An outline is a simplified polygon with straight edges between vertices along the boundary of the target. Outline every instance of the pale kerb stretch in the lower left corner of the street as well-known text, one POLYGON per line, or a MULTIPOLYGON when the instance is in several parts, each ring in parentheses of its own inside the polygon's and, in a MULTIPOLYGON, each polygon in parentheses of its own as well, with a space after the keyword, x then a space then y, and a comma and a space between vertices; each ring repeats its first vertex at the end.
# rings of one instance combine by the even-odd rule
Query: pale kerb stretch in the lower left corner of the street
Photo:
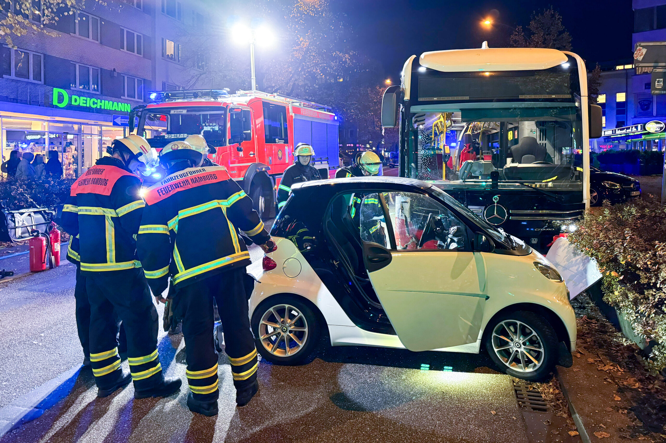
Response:
POLYGON ((0 408, 0 437, 21 424, 39 418, 68 396, 82 368, 83 365, 77 365, 0 408))

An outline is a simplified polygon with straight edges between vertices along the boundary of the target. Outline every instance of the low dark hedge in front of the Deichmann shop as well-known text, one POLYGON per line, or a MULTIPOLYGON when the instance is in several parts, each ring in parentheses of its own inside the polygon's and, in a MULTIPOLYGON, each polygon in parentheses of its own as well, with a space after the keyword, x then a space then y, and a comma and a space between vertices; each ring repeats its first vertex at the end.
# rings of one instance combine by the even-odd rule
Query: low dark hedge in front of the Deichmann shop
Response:
POLYGON ((0 200, 7 210, 50 208, 65 203, 73 178, 5 178, 0 180, 0 200))

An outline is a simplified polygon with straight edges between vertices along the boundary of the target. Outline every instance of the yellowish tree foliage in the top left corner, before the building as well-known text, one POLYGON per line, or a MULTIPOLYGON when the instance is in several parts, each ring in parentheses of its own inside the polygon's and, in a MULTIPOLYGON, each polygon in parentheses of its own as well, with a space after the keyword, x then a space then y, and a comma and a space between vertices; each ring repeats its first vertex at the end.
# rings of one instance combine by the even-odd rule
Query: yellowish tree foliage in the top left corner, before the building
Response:
POLYGON ((49 29, 49 25, 82 7, 81 0, 0 1, 0 35, 11 49, 17 49, 12 35, 20 37, 28 33, 42 33, 55 37, 57 33, 49 29))

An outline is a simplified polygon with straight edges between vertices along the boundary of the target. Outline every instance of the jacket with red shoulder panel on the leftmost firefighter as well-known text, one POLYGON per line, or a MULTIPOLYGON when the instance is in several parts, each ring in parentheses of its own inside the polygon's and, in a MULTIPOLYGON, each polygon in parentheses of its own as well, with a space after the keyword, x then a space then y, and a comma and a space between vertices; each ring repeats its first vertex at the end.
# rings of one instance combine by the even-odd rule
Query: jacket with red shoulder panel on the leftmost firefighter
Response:
POLYGON ((81 272, 141 267, 133 237, 145 206, 140 190, 141 179, 113 157, 100 158, 74 182, 62 225, 69 235, 79 237, 81 272))

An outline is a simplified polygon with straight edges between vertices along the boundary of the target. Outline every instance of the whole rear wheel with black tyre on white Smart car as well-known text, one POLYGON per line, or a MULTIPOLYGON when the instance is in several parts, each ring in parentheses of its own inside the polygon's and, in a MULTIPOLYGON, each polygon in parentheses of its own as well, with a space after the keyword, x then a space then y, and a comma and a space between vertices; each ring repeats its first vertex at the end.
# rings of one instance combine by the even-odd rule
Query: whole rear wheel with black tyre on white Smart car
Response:
POLYGON ((285 366, 309 363, 308 359, 317 347, 322 327, 318 315, 312 311, 312 308, 300 297, 290 295, 278 295, 262 301, 254 309, 250 324, 258 353, 270 363, 285 366), (288 329, 287 331, 288 334, 292 334, 291 337, 288 336, 290 346, 288 353, 284 349, 285 335, 280 331, 282 327, 276 328, 267 324, 281 324, 279 322, 284 319, 286 307, 289 308, 286 325, 293 323, 292 321, 296 317, 296 322, 292 327, 298 328, 298 330, 288 329), (300 343, 294 338, 299 339, 300 343), (277 345, 275 345, 275 341, 278 341, 277 345))

